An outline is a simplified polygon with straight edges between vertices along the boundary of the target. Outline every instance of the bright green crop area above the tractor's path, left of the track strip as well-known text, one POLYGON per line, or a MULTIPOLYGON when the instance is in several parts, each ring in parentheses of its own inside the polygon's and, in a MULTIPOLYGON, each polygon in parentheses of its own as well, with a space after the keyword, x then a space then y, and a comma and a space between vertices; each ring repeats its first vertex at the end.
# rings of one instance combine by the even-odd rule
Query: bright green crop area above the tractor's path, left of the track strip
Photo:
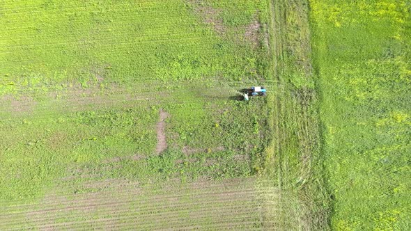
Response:
POLYGON ((254 38, 245 35, 254 20, 267 20, 263 0, 6 1, 0 10, 1 95, 77 84, 136 89, 160 80, 255 79, 264 68, 254 38))

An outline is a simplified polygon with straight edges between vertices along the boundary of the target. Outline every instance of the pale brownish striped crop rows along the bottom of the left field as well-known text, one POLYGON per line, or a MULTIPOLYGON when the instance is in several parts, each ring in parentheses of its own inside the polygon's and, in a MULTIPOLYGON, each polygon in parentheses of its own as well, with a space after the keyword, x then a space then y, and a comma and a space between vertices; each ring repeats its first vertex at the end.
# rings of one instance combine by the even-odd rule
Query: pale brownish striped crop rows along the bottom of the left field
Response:
MULTIPOLYGON (((82 200, 80 205, 77 205, 79 200, 75 199, 76 196, 73 200, 68 200, 65 197, 67 195, 60 198, 57 195, 52 198, 54 202, 51 204, 42 205, 40 202, 38 205, 27 205, 24 207, 26 209, 24 212, 13 210, 9 210, 6 214, 0 212, 7 216, 0 216, 2 221, 0 228, 1 230, 82 229, 87 225, 95 228, 96 224, 102 229, 173 227, 170 225, 183 228, 183 225, 199 224, 202 224, 201 227, 208 227, 207 225, 211 225, 210 221, 218 220, 221 221, 215 223, 217 226, 238 227, 240 223, 248 221, 247 219, 260 222, 261 212, 263 212, 261 204, 265 203, 264 195, 273 191, 277 194, 277 189, 270 186, 257 188, 254 179, 235 179, 233 182, 225 180, 217 183, 197 182, 184 187, 169 186, 158 189, 155 195, 151 189, 150 186, 145 189, 139 186, 134 186, 132 189, 113 187, 108 189, 105 192, 107 195, 100 199, 93 198, 95 193, 86 193, 79 199, 82 200), (130 195, 133 189, 137 190, 137 193, 130 195), (116 193, 110 196, 111 192, 119 192, 120 196, 116 193), (72 204, 75 206, 71 206, 72 204), (39 206, 43 208, 36 210, 39 206), (57 208, 58 206, 61 207, 57 208), (85 221, 79 221, 79 218, 84 218, 85 221), (192 223, 185 222, 187 219, 192 223), (26 222, 28 225, 24 225, 26 222)), ((20 210, 22 207, 15 209, 20 210)), ((251 221, 250 223, 253 223, 251 221)))

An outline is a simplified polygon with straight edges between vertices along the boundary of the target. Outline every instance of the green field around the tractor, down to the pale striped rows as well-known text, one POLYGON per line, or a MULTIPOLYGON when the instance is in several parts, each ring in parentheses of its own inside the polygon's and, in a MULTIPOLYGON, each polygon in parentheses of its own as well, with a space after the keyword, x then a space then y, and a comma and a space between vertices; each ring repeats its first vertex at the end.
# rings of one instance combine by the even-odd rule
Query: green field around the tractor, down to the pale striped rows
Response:
POLYGON ((263 47, 245 34, 260 15, 267 18, 267 6, 264 1, 239 3, 233 10, 224 3, 208 5, 4 3, 1 133, 7 138, 1 141, 6 149, 1 176, 7 193, 1 198, 36 196, 45 184, 65 177, 71 164, 98 169, 115 158, 123 169, 102 177, 153 177, 157 164, 164 165, 162 177, 250 175, 249 163, 233 160, 217 169, 193 166, 194 171, 191 162, 172 168, 174 161, 186 161, 184 148, 199 162, 240 154, 258 166, 256 153, 267 143, 256 138, 266 132, 265 116, 257 116, 267 113, 265 100, 228 100, 241 87, 237 79, 250 84, 265 79, 267 60, 258 55, 263 47), (207 19, 220 17, 206 12, 217 7, 226 9, 221 35, 207 19), (236 15, 240 10, 249 14, 236 15), (166 132, 172 144, 162 156, 153 153, 160 108, 170 114, 166 132), (133 156, 148 158, 153 166, 127 161, 133 156))

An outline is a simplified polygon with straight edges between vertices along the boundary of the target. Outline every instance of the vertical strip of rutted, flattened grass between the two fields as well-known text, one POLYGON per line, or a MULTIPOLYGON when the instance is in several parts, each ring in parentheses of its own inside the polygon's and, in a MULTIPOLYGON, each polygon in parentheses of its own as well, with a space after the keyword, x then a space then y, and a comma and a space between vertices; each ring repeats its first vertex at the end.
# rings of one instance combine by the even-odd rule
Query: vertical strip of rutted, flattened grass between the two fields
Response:
POLYGON ((329 198, 323 182, 318 100, 311 67, 307 1, 272 1, 272 147, 267 175, 281 189, 279 230, 327 230, 329 198), (273 154, 271 154, 273 153, 273 154), (273 166, 273 167, 270 167, 273 166))

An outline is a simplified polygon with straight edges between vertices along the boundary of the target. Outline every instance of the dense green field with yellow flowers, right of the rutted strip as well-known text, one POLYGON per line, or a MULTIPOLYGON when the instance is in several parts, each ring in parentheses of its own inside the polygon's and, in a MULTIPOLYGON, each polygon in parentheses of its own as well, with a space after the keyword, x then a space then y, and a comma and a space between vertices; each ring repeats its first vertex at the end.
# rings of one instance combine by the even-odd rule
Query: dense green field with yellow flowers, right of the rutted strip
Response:
POLYGON ((312 0, 335 230, 409 230, 410 1, 312 0))

